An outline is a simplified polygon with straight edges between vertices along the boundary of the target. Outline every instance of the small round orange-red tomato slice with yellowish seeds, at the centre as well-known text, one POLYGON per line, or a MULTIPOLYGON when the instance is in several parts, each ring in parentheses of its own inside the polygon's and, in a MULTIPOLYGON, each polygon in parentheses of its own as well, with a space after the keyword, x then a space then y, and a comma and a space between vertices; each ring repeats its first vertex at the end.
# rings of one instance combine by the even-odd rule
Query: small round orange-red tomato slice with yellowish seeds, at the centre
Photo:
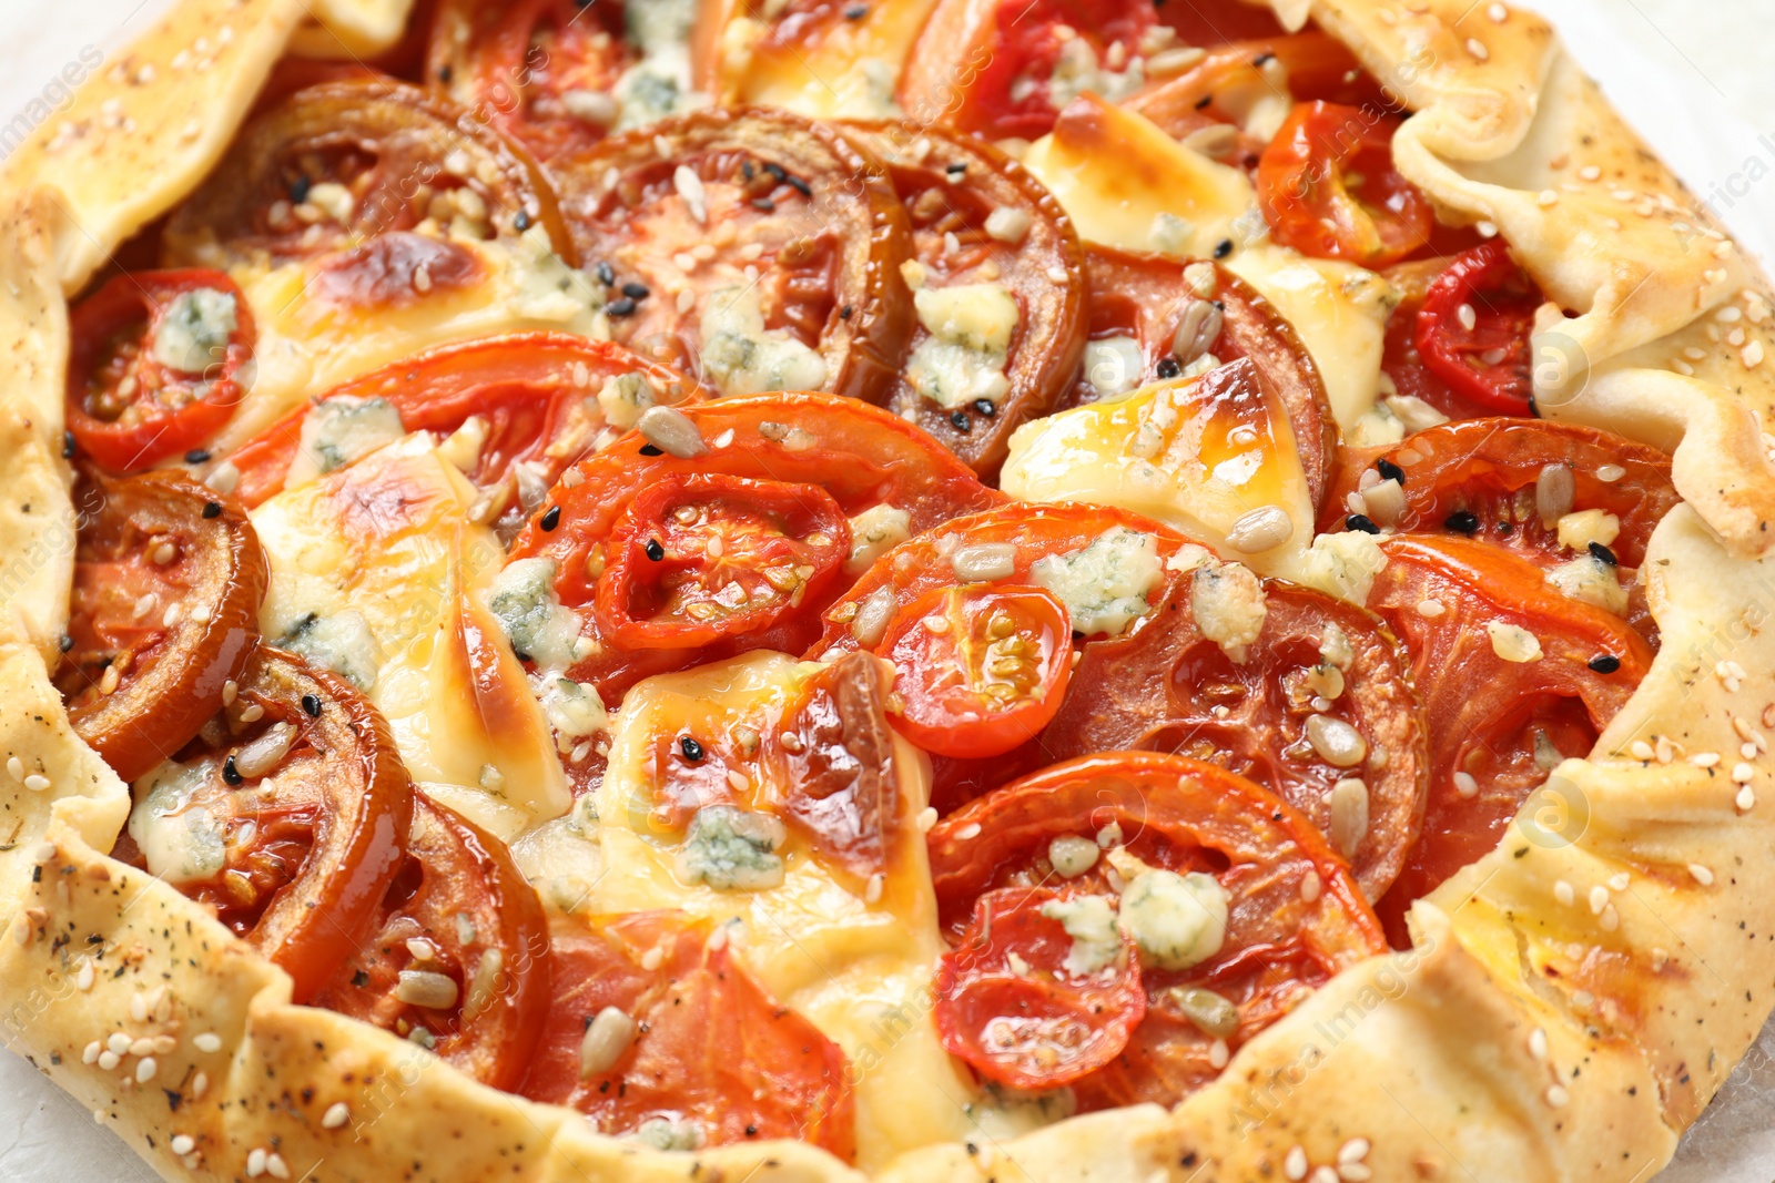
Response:
POLYGON ((1060 709, 1072 670, 1065 607, 1040 587, 932 591, 882 640, 902 706, 895 724, 941 756, 1001 756, 1060 709))

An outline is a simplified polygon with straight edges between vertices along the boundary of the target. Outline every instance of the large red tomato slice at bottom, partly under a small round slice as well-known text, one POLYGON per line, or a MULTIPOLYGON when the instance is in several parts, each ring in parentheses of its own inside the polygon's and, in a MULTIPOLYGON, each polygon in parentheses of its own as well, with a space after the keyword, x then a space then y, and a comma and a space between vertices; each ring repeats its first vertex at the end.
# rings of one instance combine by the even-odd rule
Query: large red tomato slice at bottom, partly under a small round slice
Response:
MULTIPOLYGON (((976 901, 999 892, 1058 883, 1069 896, 1115 897, 1109 862, 1118 848, 1116 858, 1209 874, 1227 892, 1218 952, 1186 970, 1141 967, 1145 1018, 1113 1061, 1072 1082, 1081 1110, 1177 1103, 1219 1075, 1214 1039, 1237 1048, 1331 975, 1384 949, 1360 887, 1305 818, 1267 789, 1180 756, 1113 752, 1056 764, 944 818, 928 844, 939 924, 958 951, 976 901), (1051 860, 1061 837, 1102 855, 1065 880, 1051 860), (1191 986, 1232 1004, 1237 1018, 1227 1034, 1209 1036, 1184 1015, 1177 991, 1191 986)), ((937 1007, 939 1030, 971 1015, 941 995, 937 1007)))

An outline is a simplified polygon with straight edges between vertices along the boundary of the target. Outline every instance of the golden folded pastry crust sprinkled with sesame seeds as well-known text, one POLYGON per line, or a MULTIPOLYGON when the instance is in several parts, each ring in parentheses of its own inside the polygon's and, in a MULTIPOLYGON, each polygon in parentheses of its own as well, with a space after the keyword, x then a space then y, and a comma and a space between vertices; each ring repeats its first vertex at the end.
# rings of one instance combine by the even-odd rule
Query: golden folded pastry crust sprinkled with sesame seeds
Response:
MULTIPOLYGON (((289 979, 199 905, 103 855, 128 786, 73 734, 46 674, 73 568, 64 298, 220 160, 309 11, 375 51, 405 7, 183 0, 0 170, 0 553, 14 557, 0 759, 20 761, 0 777, 5 1038, 169 1179, 861 1179, 797 1142, 643 1149, 295 1007, 289 979), (153 1050, 85 1062, 112 1032, 153 1050)), ((1541 20, 1470 0, 1274 7, 1393 85, 1418 112, 1397 135, 1408 179, 1454 220, 1496 225, 1578 312, 1541 325, 1541 411, 1674 450, 1686 504, 1644 568, 1663 646, 1592 757, 1562 764, 1491 855, 1416 906, 1416 949, 1333 979, 1216 1085, 1172 1114, 911 1151, 877 1178, 1205 1181, 1340 1162, 1376 1178, 1645 1178, 1775 1004, 1766 280, 1541 20)))

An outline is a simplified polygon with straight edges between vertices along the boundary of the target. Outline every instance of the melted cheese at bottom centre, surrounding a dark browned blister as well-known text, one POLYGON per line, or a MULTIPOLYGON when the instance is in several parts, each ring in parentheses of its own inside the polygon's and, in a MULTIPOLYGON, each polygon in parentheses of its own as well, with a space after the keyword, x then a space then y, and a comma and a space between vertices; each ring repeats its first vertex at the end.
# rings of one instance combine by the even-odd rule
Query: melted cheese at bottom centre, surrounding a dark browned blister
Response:
POLYGON ((857 1165, 870 1169, 974 1128, 967 1109, 978 1100, 976 1089, 937 1043, 930 1015, 943 942, 914 823, 930 791, 928 761, 895 740, 900 839, 873 905, 793 832, 774 851, 783 862, 779 885, 719 890, 690 883, 682 864, 683 835, 660 828, 651 812, 653 748, 660 738, 712 736, 738 724, 763 733, 799 701, 802 681, 818 669, 776 653, 751 653, 637 685, 618 711, 609 772, 596 795, 604 873, 566 866, 584 851, 564 835, 550 835, 536 871, 556 885, 595 881, 588 901, 593 912, 682 908, 717 922, 738 921, 731 940, 760 981, 845 1050, 856 1082, 857 1165))

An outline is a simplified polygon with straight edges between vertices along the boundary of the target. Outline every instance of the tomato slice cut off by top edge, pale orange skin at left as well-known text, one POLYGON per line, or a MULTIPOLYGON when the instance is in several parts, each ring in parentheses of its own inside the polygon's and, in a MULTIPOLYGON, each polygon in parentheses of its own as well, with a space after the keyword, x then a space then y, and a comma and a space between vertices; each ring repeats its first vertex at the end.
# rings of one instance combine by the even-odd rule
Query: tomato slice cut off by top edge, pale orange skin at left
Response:
POLYGON ((1033 140, 1081 90, 1115 101, 1136 89, 1131 62, 1177 43, 1157 27, 1152 0, 939 0, 900 74, 900 106, 912 124, 1033 140))

